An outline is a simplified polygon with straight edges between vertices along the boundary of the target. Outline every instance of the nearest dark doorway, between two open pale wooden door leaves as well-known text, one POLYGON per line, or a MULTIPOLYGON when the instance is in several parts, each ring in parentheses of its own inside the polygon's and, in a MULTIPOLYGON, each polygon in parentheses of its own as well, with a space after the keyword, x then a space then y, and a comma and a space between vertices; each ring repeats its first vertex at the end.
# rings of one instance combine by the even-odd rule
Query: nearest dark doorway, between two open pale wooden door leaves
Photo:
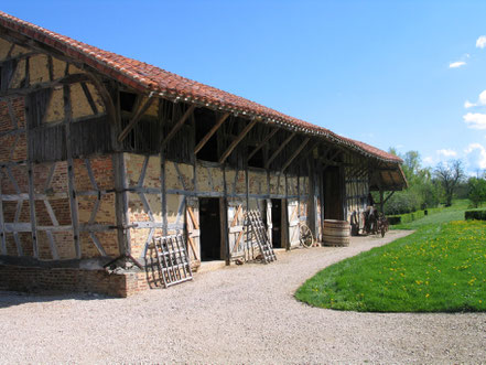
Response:
POLYGON ((201 260, 222 260, 219 198, 199 198, 201 260))

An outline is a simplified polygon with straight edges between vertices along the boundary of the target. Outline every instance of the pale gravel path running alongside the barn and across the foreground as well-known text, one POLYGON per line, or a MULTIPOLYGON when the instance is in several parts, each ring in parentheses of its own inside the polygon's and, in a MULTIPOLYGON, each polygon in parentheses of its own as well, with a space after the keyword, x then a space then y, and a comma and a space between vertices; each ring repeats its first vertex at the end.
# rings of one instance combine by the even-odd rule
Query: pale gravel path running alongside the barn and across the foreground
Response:
POLYGON ((486 313, 316 309, 293 292, 385 239, 299 249, 128 299, 0 292, 0 363, 486 363, 486 313))

